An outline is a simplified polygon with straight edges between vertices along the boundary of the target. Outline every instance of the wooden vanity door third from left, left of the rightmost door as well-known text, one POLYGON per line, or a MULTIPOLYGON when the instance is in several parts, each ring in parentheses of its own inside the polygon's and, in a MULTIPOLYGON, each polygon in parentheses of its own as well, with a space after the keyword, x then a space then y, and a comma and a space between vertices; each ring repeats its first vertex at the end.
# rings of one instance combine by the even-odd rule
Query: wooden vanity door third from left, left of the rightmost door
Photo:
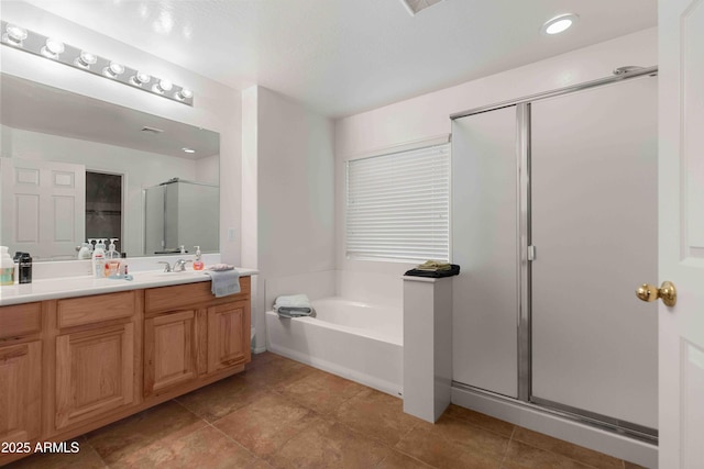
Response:
POLYGON ((144 394, 197 378, 197 322, 193 310, 144 321, 144 394))

